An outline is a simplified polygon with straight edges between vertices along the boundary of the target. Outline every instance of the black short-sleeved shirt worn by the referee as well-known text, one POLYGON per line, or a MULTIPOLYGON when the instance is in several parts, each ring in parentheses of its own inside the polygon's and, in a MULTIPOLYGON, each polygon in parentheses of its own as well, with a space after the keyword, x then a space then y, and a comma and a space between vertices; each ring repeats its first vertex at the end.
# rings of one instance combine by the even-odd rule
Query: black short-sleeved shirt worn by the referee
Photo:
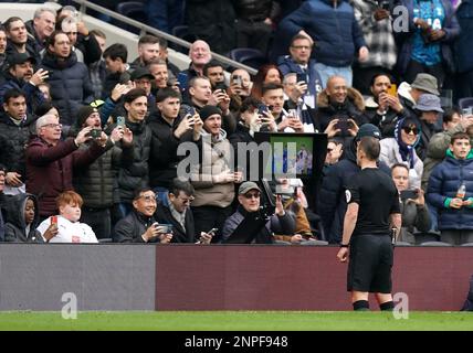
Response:
POLYGON ((389 215, 400 213, 400 199, 391 176, 378 168, 365 168, 345 191, 347 203, 359 205, 356 234, 389 234, 389 215))

